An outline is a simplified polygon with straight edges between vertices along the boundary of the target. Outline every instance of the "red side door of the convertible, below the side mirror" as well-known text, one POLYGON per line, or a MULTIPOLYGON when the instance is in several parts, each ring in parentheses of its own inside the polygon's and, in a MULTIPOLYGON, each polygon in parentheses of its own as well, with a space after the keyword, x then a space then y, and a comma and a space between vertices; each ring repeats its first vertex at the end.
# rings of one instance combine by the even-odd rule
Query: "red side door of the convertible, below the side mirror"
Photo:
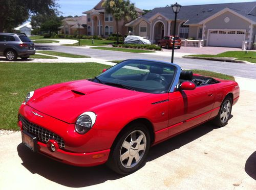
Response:
POLYGON ((208 120, 215 101, 211 85, 169 93, 168 135, 172 136, 208 120))

